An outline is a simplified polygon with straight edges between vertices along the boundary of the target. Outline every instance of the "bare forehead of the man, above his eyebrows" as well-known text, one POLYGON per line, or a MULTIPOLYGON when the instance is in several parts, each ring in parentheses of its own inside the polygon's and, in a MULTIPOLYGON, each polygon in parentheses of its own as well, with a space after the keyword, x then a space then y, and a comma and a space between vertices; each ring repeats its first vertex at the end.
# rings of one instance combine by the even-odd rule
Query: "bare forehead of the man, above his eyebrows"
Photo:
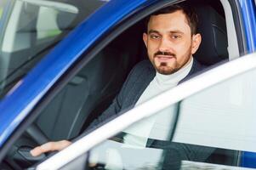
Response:
POLYGON ((190 32, 191 28, 188 24, 183 11, 178 10, 171 14, 152 15, 148 23, 148 31, 182 31, 190 32))

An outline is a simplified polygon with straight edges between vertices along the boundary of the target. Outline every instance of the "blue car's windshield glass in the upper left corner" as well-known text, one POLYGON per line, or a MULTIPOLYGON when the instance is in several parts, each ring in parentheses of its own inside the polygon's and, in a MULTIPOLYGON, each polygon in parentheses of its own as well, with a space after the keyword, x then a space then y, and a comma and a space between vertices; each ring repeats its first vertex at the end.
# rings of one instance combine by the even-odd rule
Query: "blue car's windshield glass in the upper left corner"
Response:
MULTIPOLYGON (((82 20, 105 2, 9 0, 0 31, 0 94, 5 94, 82 20)), ((3 16, 3 15, 2 15, 3 16)))

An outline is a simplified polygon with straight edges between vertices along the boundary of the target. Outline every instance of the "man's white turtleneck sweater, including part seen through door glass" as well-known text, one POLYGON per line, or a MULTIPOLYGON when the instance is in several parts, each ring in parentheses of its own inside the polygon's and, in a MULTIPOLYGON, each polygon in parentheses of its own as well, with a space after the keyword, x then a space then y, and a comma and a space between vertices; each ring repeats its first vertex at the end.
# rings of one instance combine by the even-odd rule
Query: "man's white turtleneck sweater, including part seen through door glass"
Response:
MULTIPOLYGON (((148 99, 161 94, 162 92, 174 88, 178 83, 184 79, 191 71, 193 64, 193 58, 179 71, 176 71, 171 75, 162 75, 156 72, 156 77, 151 81, 144 93, 140 96, 136 105, 145 102, 148 99)), ((134 138, 132 135, 126 135, 124 137, 125 144, 132 144, 137 146, 144 146, 148 138, 151 139, 168 139, 170 133, 170 127, 174 112, 174 106, 170 106, 167 109, 157 113, 155 116, 144 119, 134 126, 128 127, 124 130, 125 133, 134 134, 135 136, 143 137, 141 139, 134 138)))

